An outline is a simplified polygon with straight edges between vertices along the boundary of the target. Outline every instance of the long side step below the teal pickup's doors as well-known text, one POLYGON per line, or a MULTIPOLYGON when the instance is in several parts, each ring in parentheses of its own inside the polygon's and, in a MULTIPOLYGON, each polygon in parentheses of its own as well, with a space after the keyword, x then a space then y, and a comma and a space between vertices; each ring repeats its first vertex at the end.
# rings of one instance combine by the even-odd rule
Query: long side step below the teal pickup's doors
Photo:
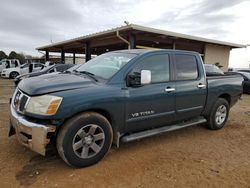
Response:
POLYGON ((169 131, 174 131, 177 129, 182 129, 185 127, 190 127, 193 125, 206 123, 206 122, 207 122, 207 120, 204 117, 197 117, 195 119, 192 119, 192 120, 189 120, 186 122, 182 122, 179 124, 175 124, 175 125, 169 125, 169 126, 165 126, 165 127, 159 127, 159 128, 155 128, 155 129, 150 129, 150 130, 146 130, 146 131, 132 133, 132 134, 123 136, 121 140, 122 140, 122 142, 132 142, 134 140, 139 140, 141 138, 146 138, 146 137, 154 136, 157 134, 161 134, 161 133, 165 133, 165 132, 169 132, 169 131))

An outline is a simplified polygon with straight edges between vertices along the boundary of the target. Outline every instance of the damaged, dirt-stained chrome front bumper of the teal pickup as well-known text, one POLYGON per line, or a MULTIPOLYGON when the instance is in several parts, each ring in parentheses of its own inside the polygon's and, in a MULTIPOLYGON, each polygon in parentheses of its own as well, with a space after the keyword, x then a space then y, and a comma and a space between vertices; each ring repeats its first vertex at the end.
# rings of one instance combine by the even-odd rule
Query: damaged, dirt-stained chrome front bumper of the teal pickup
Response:
POLYGON ((46 146, 50 139, 48 133, 56 131, 53 125, 42 125, 27 120, 23 115, 18 114, 13 105, 10 105, 10 134, 16 133, 18 141, 31 150, 44 155, 46 146))

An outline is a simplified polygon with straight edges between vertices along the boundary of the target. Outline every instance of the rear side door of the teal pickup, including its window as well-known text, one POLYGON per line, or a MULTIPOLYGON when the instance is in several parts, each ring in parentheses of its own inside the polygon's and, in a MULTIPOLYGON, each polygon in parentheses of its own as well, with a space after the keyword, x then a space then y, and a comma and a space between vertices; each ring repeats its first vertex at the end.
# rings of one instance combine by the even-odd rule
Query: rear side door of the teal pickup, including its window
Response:
POLYGON ((175 53, 176 120, 199 116, 207 96, 206 78, 199 57, 175 53))

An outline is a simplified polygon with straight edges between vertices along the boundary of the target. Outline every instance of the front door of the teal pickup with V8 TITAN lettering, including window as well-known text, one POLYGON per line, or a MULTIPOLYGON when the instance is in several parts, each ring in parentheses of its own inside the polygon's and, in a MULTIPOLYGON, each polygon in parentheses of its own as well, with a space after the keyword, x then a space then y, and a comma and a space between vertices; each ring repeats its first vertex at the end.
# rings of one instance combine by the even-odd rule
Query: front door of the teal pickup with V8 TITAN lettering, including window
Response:
POLYGON ((170 56, 159 53, 144 57, 135 65, 130 74, 141 70, 151 71, 151 83, 139 87, 128 87, 126 100, 127 131, 166 125, 174 120, 175 92, 171 81, 170 56))

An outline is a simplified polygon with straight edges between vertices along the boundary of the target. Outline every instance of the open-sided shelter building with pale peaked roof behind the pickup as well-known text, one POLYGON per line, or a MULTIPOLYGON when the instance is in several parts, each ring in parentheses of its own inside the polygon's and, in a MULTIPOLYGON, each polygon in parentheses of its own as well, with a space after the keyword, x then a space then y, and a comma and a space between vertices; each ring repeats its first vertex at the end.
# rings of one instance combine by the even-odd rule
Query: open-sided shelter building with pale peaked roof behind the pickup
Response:
POLYGON ((205 63, 219 64, 222 69, 228 69, 230 50, 245 48, 245 45, 223 42, 181 33, 129 24, 47 46, 37 48, 46 53, 49 60, 50 52, 61 54, 65 62, 65 53, 71 53, 75 63, 76 54, 85 54, 88 61, 91 55, 100 55, 107 51, 135 48, 162 48, 196 51, 201 54, 205 63))

